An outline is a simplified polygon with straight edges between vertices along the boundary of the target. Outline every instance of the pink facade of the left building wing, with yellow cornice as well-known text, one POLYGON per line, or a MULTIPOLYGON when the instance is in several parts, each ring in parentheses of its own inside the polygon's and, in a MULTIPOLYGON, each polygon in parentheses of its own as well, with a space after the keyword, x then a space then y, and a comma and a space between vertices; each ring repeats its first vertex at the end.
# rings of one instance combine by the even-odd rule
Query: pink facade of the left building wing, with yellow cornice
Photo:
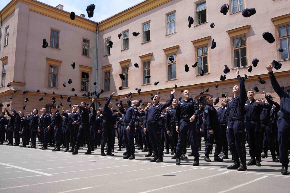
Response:
POLYGON ((70 13, 62 9, 62 5, 55 8, 34 0, 12 0, 1 10, 0 100, 4 106, 9 103, 22 110, 27 105, 25 112, 30 112, 47 105, 49 111, 52 97, 55 105, 61 102, 66 109, 67 96, 72 96, 72 104, 90 101, 81 95, 96 87, 97 23, 80 16, 71 20, 70 13), (43 39, 47 48, 42 48, 43 39), (21 95, 23 90, 28 93, 21 95), (39 97, 44 99, 39 101, 39 97))

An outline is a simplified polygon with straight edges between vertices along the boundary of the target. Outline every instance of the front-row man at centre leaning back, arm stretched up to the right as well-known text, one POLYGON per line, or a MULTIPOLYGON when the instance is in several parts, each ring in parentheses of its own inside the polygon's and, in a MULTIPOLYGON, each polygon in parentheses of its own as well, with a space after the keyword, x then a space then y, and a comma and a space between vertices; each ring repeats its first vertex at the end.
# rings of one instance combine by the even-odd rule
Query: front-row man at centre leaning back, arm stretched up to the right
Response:
POLYGON ((160 97, 158 95, 155 95, 153 97, 153 105, 148 107, 148 111, 144 118, 144 132, 145 134, 148 133, 149 138, 152 143, 153 149, 157 147, 157 150, 155 149, 154 152, 156 152, 153 159, 151 159, 151 162, 163 162, 163 150, 162 145, 160 143, 160 130, 158 125, 158 119, 163 109, 166 107, 169 107, 173 101, 173 94, 175 92, 175 89, 171 91, 171 94, 169 95, 170 98, 167 103, 165 104, 158 104, 160 97))

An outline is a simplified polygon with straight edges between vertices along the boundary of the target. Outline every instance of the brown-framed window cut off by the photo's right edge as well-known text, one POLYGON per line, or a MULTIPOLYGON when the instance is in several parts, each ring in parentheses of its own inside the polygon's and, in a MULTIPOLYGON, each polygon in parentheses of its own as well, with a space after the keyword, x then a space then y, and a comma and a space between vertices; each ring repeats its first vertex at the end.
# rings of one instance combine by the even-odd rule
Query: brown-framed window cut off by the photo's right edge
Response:
POLYGON ((290 26, 279 28, 280 48, 284 51, 280 52, 281 60, 290 58, 290 26))

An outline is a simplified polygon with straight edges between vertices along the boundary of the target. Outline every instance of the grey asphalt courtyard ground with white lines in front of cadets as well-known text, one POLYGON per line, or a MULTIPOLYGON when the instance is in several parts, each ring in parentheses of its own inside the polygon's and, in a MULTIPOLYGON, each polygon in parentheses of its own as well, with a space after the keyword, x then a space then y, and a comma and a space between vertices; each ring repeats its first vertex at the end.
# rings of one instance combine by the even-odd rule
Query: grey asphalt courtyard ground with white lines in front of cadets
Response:
POLYGON ((115 156, 100 156, 99 147, 90 155, 84 155, 86 148, 77 155, 51 149, 0 145, 0 192, 290 192, 290 175, 281 175, 270 152, 261 167, 239 172, 226 169, 231 155, 224 162, 210 155, 212 162, 205 162, 204 141, 200 166, 192 165, 193 157, 177 166, 170 154, 152 163, 137 149, 135 160, 123 159, 124 151, 116 149, 115 156))

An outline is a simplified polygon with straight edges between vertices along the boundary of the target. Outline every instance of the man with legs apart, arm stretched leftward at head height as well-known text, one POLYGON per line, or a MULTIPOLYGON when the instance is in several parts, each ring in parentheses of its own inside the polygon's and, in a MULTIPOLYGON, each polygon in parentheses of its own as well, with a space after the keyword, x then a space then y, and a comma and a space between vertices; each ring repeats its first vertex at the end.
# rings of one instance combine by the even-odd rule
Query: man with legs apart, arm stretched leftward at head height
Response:
POLYGON ((88 150, 85 152, 85 154, 91 154, 91 144, 90 144, 90 128, 89 128, 89 110, 86 108, 86 103, 81 102, 81 105, 73 105, 72 107, 80 108, 81 110, 81 125, 79 125, 79 130, 77 132, 77 142, 75 143, 75 150, 72 152, 72 154, 78 153, 78 148, 82 144, 82 137, 85 137, 85 141, 87 143, 88 150))

